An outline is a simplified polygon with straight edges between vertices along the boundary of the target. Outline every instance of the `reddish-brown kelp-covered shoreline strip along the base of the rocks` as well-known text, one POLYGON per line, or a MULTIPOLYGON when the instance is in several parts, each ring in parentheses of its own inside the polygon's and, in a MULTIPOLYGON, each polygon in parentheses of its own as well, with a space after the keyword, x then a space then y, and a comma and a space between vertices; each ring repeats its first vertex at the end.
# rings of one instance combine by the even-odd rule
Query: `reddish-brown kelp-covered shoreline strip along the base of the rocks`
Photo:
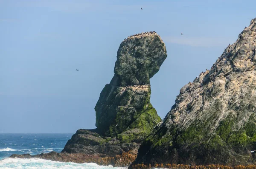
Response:
POLYGON ((256 165, 247 165, 247 166, 225 166, 220 164, 210 164, 210 165, 184 165, 184 164, 135 164, 131 163, 135 160, 137 155, 130 154, 130 152, 125 152, 122 155, 116 155, 115 157, 105 157, 100 158, 99 156, 86 155, 84 153, 57 153, 50 152, 47 154, 40 155, 11 155, 10 158, 40 158, 51 161, 59 162, 74 162, 74 163, 96 163, 102 166, 112 165, 113 167, 128 167, 129 169, 256 169, 256 165))

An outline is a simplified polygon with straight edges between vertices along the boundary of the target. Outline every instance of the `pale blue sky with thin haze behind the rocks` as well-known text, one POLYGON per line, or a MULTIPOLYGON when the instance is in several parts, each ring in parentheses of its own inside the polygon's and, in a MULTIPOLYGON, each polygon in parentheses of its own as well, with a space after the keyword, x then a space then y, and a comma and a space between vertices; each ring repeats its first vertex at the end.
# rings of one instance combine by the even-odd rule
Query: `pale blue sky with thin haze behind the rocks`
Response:
POLYGON ((151 78, 151 103, 164 118, 180 88, 211 68, 256 17, 255 6, 255 0, 0 0, 0 133, 95 128, 94 107, 113 77, 120 43, 144 31, 156 31, 166 44, 167 59, 151 78))

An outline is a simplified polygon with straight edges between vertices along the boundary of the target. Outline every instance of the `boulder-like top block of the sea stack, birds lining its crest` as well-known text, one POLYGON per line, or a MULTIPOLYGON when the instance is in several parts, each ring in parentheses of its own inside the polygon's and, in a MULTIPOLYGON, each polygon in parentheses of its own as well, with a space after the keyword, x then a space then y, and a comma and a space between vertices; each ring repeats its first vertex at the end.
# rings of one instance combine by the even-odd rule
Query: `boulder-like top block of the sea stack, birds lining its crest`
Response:
POLYGON ((150 84, 166 56, 166 47, 156 33, 128 37, 117 51, 113 85, 150 84))

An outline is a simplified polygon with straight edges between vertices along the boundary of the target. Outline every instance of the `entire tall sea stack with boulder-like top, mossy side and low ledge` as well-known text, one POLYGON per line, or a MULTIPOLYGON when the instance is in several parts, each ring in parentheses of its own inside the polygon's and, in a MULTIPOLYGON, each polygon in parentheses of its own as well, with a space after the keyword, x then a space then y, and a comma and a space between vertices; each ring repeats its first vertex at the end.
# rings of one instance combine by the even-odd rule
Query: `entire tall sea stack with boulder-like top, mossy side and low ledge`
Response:
POLYGON ((161 121, 150 103, 149 79, 166 59, 166 47, 155 32, 125 39, 114 76, 95 106, 96 129, 78 130, 62 152, 113 156, 134 150, 161 121))

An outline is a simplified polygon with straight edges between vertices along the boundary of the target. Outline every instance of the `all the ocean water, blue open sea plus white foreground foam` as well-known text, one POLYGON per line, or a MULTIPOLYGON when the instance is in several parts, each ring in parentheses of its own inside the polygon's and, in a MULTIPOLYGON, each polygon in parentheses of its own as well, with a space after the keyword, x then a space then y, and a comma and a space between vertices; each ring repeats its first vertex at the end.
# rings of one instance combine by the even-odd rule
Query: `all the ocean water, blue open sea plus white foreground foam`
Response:
MULTIPOLYGON (((95 163, 62 163, 42 159, 8 158, 12 154, 31 155, 61 152, 72 133, 61 134, 0 134, 0 169, 113 169, 95 163)), ((114 167, 124 169, 125 167, 114 167)), ((127 168, 127 167, 126 167, 127 168)))

